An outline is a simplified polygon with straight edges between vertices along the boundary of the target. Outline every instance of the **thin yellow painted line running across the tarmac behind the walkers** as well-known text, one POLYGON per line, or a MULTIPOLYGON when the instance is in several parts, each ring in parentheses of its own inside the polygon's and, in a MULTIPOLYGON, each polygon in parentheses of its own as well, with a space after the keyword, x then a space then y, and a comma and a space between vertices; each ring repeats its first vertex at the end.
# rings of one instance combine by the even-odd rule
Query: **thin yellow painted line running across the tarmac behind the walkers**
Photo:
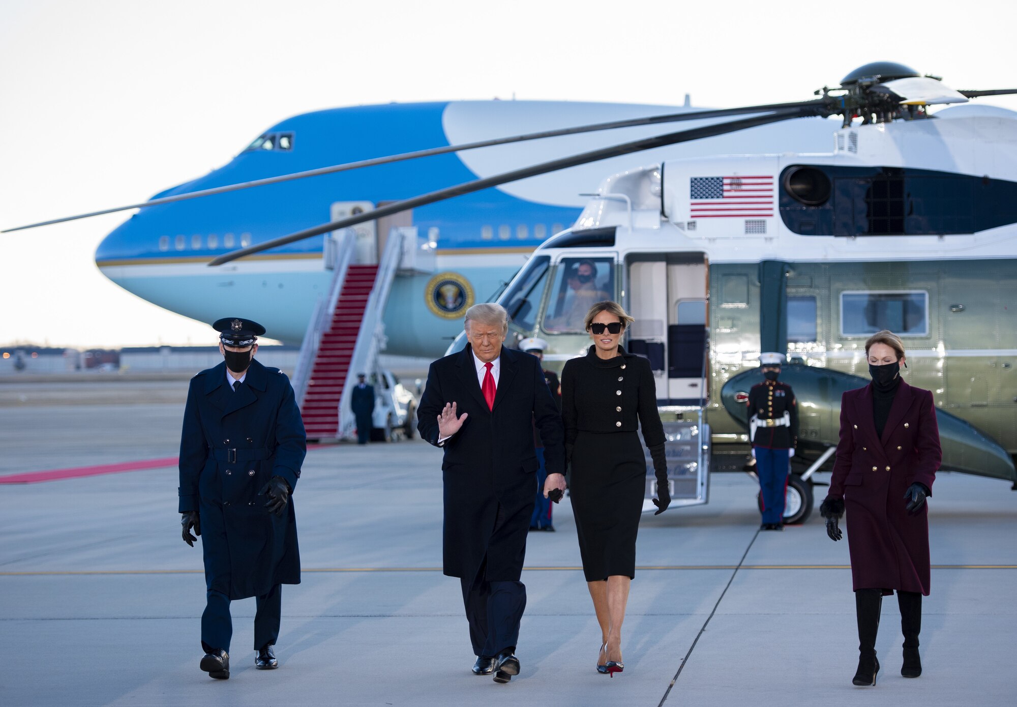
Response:
MULTIPOLYGON (((525 567, 524 572, 580 572, 582 567, 525 567)), ((637 567, 640 572, 651 570, 850 570, 850 565, 650 565, 637 567)), ((933 565, 933 570, 1017 570, 1017 565, 933 565)), ((378 573, 378 572, 441 572, 439 567, 311 567, 301 572, 310 574, 378 573)), ((39 570, 35 572, 0 572, 0 577, 59 577, 76 575, 200 575, 204 570, 39 570)))

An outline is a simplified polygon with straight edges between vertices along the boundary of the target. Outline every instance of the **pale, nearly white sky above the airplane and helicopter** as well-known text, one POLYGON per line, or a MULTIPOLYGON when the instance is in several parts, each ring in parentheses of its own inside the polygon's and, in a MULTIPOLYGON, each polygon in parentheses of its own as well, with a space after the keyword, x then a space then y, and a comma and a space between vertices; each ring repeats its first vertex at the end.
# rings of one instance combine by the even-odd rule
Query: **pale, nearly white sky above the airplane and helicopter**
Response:
MULTIPOLYGON (((1017 87, 1017 3, 0 0, 0 227, 141 201, 288 116, 455 99, 729 107, 870 61, 1017 87)), ((1017 110, 1017 97, 981 102, 1017 110)), ((207 344, 94 255, 127 215, 0 235, 0 344, 207 344)), ((212 336, 210 336, 212 335, 212 336)))

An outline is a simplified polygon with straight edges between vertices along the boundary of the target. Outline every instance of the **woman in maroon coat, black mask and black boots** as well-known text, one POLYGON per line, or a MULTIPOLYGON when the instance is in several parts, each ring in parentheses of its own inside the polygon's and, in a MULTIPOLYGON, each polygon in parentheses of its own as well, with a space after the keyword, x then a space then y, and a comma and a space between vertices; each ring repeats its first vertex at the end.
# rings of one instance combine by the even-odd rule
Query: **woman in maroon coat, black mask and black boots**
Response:
POLYGON ((830 492, 820 506, 827 534, 841 538, 847 511, 858 622, 854 685, 876 685, 876 634, 883 596, 897 590, 904 633, 905 677, 921 674, 918 632, 921 596, 929 596, 929 507, 942 452, 933 394, 900 376, 904 346, 880 332, 865 342, 873 381, 848 391, 840 403, 840 444, 830 492))

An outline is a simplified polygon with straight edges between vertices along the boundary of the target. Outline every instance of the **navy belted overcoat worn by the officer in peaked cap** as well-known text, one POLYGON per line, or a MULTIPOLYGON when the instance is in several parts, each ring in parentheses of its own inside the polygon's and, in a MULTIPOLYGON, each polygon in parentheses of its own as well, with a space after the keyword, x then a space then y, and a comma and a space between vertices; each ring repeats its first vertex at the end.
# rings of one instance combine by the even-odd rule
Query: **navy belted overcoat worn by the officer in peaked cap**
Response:
POLYGON ((197 511, 207 588, 230 599, 300 583, 293 496, 282 517, 258 491, 273 476, 295 489, 307 437, 290 380, 251 361, 240 390, 226 363, 191 378, 180 438, 180 513, 197 511))

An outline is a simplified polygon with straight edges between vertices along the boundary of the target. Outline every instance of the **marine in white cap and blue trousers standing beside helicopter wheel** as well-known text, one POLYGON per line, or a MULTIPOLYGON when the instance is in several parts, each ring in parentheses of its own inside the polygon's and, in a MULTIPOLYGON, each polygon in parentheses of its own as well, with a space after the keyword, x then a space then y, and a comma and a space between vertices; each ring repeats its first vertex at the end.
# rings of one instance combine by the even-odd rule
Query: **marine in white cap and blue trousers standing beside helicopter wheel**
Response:
POLYGON ((764 353, 760 365, 766 378, 749 391, 749 429, 756 473, 763 495, 763 530, 783 530, 788 460, 798 440, 798 406, 794 392, 780 382, 784 355, 764 353))

